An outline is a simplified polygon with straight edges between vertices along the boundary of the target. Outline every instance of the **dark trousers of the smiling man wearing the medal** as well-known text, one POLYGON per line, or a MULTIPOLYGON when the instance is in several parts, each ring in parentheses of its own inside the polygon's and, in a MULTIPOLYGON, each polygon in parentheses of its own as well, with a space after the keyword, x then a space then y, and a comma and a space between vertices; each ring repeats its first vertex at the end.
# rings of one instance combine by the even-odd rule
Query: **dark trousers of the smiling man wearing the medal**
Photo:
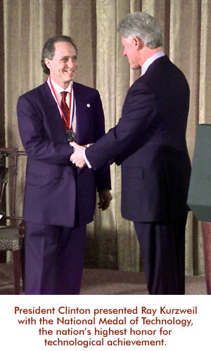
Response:
POLYGON ((25 294, 77 295, 84 265, 86 225, 26 223, 25 294))

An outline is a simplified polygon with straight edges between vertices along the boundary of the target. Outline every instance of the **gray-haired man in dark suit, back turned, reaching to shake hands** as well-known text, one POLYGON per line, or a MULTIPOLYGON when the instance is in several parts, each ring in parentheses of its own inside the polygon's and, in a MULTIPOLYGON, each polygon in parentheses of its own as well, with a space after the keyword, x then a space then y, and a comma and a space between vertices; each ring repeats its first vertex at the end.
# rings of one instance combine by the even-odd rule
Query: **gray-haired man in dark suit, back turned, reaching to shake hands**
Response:
POLYGON ((122 216, 134 221, 151 294, 184 294, 186 205, 191 163, 186 147, 189 88, 162 50, 158 22, 147 13, 119 25, 124 55, 141 77, 129 88, 122 118, 71 160, 97 169, 122 165, 122 216))

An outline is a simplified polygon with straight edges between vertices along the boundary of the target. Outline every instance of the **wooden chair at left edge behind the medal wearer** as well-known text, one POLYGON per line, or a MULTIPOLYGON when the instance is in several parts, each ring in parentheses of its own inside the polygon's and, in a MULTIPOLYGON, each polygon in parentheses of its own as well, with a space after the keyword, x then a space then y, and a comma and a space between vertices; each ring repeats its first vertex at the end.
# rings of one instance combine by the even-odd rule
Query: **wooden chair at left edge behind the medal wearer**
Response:
POLYGON ((15 196, 18 175, 18 159, 25 152, 14 147, 0 148, 0 251, 13 251, 13 275, 15 294, 20 293, 20 270, 24 291, 24 234, 25 223, 15 215, 15 196), (6 158, 8 162, 6 162, 6 158), (11 204, 6 201, 6 185, 11 193, 11 204), (10 208, 7 210, 6 208, 10 208), (10 220, 10 225, 7 225, 10 220), (3 224, 4 223, 4 224, 3 224), (12 223, 12 224, 11 224, 12 223))

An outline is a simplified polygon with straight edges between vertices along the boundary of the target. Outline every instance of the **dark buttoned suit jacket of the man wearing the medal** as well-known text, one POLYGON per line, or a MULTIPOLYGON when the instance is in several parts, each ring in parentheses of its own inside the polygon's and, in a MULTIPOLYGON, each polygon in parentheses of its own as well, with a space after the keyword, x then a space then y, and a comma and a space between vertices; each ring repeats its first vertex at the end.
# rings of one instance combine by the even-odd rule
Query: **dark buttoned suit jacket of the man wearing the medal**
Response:
MULTIPOLYGON (((98 91, 73 83, 77 143, 95 143, 105 133, 98 91)), ((18 126, 27 153, 23 218, 32 223, 73 227, 93 220, 96 187, 110 189, 110 169, 77 169, 63 120, 47 83, 18 99, 18 126), (77 220, 76 220, 77 218, 77 220)))

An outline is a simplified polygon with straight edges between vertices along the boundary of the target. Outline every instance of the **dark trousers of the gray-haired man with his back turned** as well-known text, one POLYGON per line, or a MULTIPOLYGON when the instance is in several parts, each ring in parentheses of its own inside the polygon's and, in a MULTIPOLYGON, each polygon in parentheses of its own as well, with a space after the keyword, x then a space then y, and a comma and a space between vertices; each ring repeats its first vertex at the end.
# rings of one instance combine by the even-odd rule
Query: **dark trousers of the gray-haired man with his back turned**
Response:
POLYGON ((134 222, 151 295, 184 295, 187 216, 165 222, 134 222))

